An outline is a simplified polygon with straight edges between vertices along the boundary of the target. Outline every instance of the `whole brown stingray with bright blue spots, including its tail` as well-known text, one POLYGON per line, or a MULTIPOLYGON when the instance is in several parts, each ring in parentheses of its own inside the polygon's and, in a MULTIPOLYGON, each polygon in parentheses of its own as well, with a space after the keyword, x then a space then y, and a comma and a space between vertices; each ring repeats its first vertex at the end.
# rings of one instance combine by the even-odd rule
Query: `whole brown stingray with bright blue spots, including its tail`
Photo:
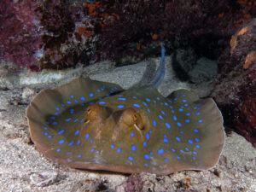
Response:
POLYGON ((79 78, 41 91, 26 111, 33 143, 73 168, 158 175, 211 168, 224 145, 222 115, 211 98, 189 90, 161 96, 164 73, 162 48, 147 86, 79 78))

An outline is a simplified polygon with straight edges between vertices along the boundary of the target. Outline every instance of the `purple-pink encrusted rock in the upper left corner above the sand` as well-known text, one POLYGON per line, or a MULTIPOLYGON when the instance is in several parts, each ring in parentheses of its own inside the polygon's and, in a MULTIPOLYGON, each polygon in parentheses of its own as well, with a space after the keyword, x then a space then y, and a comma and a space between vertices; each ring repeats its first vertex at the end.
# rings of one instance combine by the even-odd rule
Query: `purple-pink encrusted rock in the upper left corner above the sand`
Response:
POLYGON ((0 3, 0 57, 23 67, 36 63, 35 52, 42 39, 36 4, 32 1, 12 0, 0 3))

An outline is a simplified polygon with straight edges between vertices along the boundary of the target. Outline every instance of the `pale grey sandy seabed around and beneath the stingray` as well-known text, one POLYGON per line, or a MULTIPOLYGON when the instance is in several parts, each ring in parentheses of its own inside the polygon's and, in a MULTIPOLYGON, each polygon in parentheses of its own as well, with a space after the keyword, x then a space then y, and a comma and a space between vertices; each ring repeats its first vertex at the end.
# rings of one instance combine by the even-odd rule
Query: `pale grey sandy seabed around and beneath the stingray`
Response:
MULTIPOLYGON (((256 148, 235 132, 226 137, 223 153, 212 169, 167 176, 75 170, 38 153, 29 138, 26 121, 26 108, 38 91, 55 88, 80 75, 128 89, 146 82, 159 61, 149 59, 117 68, 105 61, 62 72, 25 70, 18 76, 0 70, 0 191, 256 191, 256 148)), ((207 67, 203 70, 204 75, 212 73, 207 67)), ((159 87, 163 96, 180 88, 206 96, 211 86, 211 80, 194 85, 179 81, 173 73, 171 58, 166 58, 166 76, 159 87)))

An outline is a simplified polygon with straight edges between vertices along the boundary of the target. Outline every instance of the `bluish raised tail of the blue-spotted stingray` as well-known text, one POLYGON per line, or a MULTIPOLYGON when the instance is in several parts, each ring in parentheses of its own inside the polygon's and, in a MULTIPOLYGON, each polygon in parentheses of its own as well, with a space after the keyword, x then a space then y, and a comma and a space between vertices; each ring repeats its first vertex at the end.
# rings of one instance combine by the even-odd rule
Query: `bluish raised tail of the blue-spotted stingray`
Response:
POLYGON ((165 76, 165 65, 166 65, 166 61, 165 61, 165 53, 166 53, 166 49, 164 47, 164 45, 161 45, 161 61, 160 61, 160 66, 158 67, 157 71, 154 73, 154 78, 151 79, 151 81, 148 83, 148 86, 153 86, 153 87, 157 87, 162 79, 165 76))

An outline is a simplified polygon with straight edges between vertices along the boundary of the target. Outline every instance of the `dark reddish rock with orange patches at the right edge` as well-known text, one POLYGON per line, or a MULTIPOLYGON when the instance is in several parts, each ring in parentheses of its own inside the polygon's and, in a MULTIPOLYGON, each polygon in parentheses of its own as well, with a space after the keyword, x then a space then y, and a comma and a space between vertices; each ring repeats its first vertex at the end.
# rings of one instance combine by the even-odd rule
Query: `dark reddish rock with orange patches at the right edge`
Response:
POLYGON ((256 19, 242 26, 218 60, 212 96, 224 121, 256 147, 256 19))

